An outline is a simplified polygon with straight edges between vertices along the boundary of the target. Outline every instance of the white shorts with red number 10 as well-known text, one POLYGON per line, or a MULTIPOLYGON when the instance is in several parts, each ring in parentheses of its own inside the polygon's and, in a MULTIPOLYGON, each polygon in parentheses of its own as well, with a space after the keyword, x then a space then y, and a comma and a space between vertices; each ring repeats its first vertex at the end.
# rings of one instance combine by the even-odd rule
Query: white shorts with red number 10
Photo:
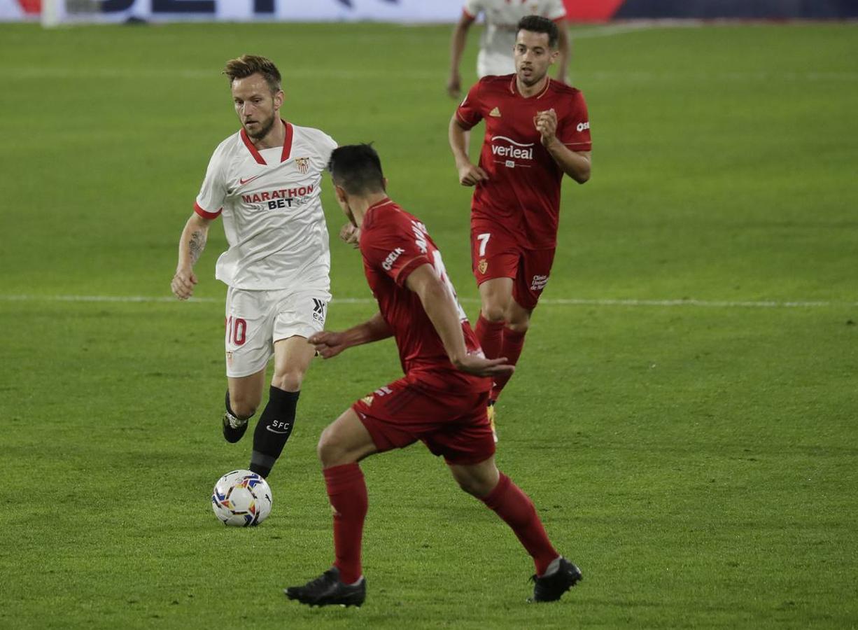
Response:
POLYGON ((263 370, 274 355, 274 343, 281 339, 321 332, 329 301, 324 289, 227 288, 227 376, 239 378, 263 370))

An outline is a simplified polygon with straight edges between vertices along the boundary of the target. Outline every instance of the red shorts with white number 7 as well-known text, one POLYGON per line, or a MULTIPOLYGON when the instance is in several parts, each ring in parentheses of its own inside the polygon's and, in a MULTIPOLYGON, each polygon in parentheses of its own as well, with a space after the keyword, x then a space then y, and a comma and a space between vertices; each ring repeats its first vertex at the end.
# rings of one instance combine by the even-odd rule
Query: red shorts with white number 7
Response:
POLYGON ((532 311, 551 275, 554 248, 532 250, 496 221, 471 222, 471 264, 477 286, 493 278, 512 278, 512 299, 532 311))

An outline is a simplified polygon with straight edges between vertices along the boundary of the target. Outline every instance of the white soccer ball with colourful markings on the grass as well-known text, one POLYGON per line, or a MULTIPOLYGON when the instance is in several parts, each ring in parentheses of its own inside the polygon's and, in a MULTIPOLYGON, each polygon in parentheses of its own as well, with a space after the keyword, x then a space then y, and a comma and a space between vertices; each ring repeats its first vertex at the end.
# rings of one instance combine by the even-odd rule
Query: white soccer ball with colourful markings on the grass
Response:
POLYGON ((233 470, 215 483, 212 510, 225 525, 258 525, 271 513, 271 488, 255 472, 233 470))

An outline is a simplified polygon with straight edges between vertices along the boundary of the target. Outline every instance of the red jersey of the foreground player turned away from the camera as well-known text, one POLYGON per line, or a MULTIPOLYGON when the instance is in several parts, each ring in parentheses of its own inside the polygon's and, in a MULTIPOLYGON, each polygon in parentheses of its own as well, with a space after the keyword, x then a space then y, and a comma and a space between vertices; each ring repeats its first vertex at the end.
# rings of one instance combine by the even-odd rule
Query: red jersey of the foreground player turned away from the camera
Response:
MULTIPOLYGON (((460 372, 450 363, 420 297, 405 286, 412 271, 431 264, 458 306, 441 252, 426 233, 426 226, 390 199, 384 199, 366 211, 360 226, 360 253, 364 257, 366 281, 378 300, 384 321, 396 337, 402 371, 431 391, 490 390, 491 379, 460 372)), ((462 306, 458 309, 468 351, 481 352, 462 306)))

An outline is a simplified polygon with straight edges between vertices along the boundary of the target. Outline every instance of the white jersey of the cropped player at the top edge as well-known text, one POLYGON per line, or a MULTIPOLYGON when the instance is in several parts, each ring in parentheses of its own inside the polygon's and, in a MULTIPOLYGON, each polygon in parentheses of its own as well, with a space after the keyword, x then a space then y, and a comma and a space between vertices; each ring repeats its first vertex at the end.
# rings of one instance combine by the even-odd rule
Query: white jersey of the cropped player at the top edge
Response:
POLYGON ((541 15, 549 20, 566 16, 563 0, 467 0, 462 10, 476 19, 486 16, 486 27, 480 38, 477 74, 511 75, 516 71, 512 48, 516 45, 518 21, 527 15, 541 15))

